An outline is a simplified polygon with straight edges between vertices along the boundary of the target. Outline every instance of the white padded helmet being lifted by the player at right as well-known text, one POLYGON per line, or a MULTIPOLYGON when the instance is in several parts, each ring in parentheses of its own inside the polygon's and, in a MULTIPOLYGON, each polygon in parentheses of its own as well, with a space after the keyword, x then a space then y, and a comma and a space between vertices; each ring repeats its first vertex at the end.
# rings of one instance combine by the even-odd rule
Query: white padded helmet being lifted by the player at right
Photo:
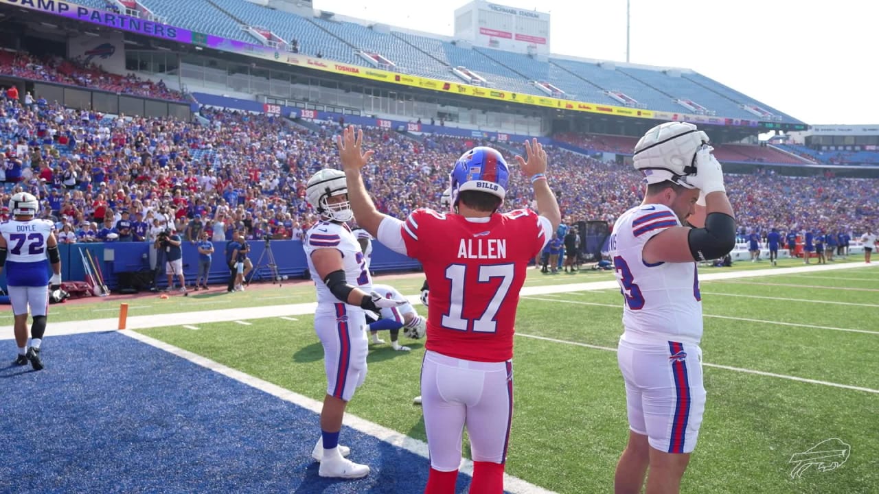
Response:
POLYGON ((647 131, 635 146, 635 169, 648 185, 671 180, 688 189, 687 175, 696 172, 696 153, 708 146, 708 134, 687 122, 665 122, 647 131))

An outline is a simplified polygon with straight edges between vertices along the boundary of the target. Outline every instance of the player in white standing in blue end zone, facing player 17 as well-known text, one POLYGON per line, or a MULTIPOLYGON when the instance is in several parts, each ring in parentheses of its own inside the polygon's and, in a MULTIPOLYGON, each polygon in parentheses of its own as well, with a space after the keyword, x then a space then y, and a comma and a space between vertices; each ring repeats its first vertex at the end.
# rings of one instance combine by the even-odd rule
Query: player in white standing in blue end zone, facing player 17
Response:
POLYGON ((369 467, 345 459, 348 447, 338 445, 345 406, 367 376, 365 310, 399 307, 372 290, 357 239, 345 222, 353 214, 345 173, 324 169, 309 178, 306 197, 321 216, 305 234, 303 247, 317 289, 315 331, 323 345, 327 392, 321 410, 321 439, 311 455, 321 462, 319 476, 360 478, 369 467))

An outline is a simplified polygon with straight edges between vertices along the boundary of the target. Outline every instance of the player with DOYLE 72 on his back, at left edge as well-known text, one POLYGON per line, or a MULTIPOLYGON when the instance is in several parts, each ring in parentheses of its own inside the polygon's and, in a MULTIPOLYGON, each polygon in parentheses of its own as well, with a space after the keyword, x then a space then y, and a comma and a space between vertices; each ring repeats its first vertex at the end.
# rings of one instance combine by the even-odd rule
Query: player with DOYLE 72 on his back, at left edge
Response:
POLYGON ((40 201, 30 193, 16 193, 9 201, 12 220, 0 224, 0 271, 6 269, 6 285, 15 316, 15 341, 19 366, 31 362, 43 368, 40 344, 46 332, 49 290, 61 287, 61 255, 52 233, 54 223, 36 218, 40 201), (46 258, 52 265, 48 276, 46 258), (33 316, 31 344, 27 345, 27 313, 33 316))

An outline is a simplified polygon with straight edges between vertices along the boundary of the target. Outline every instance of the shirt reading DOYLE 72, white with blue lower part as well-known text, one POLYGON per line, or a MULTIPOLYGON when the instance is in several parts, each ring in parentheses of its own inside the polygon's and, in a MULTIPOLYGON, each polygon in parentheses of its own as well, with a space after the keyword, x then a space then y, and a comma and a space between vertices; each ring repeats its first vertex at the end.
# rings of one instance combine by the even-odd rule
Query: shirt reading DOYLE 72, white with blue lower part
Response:
POLYGON ((11 220, 0 224, 6 240, 6 284, 10 287, 45 287, 49 284, 46 242, 54 223, 47 220, 11 220))

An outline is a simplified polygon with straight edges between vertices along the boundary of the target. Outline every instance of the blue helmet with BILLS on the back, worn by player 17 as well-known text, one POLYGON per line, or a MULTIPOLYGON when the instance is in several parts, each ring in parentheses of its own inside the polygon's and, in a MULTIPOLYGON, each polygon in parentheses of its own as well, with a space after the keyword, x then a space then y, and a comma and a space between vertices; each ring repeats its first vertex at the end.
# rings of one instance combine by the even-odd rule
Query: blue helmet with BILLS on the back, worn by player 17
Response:
POLYGON ((450 177, 454 211, 461 191, 490 193, 504 200, 510 169, 497 150, 478 146, 458 158, 450 177))

